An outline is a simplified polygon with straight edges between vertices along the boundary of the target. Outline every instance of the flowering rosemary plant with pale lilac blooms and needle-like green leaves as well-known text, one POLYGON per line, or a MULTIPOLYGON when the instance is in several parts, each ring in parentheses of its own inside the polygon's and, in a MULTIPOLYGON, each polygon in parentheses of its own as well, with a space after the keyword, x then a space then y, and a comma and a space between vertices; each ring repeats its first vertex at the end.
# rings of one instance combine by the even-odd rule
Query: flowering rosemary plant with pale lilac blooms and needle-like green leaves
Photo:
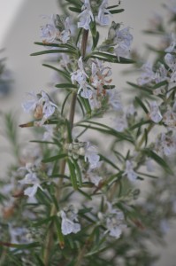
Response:
MULTIPOLYGON (((167 159, 176 148, 175 37, 163 50, 149 47, 157 59, 142 66, 136 84, 128 82, 125 105, 113 65, 136 62, 131 28, 114 21, 124 12, 120 2, 59 3, 63 15, 43 18, 35 43, 42 51, 32 54, 50 55, 43 66, 57 73, 57 90, 30 92, 22 105, 33 119, 20 127, 33 127, 36 138, 26 153, 15 145, 18 165, 2 181, 0 264, 153 265, 145 240, 161 239, 176 212, 167 159), (105 40, 100 27, 107 27, 105 40), (153 180, 145 202, 144 179, 153 180), (172 199, 163 196, 166 185, 172 199)), ((164 27, 149 33, 164 35, 164 27)))

